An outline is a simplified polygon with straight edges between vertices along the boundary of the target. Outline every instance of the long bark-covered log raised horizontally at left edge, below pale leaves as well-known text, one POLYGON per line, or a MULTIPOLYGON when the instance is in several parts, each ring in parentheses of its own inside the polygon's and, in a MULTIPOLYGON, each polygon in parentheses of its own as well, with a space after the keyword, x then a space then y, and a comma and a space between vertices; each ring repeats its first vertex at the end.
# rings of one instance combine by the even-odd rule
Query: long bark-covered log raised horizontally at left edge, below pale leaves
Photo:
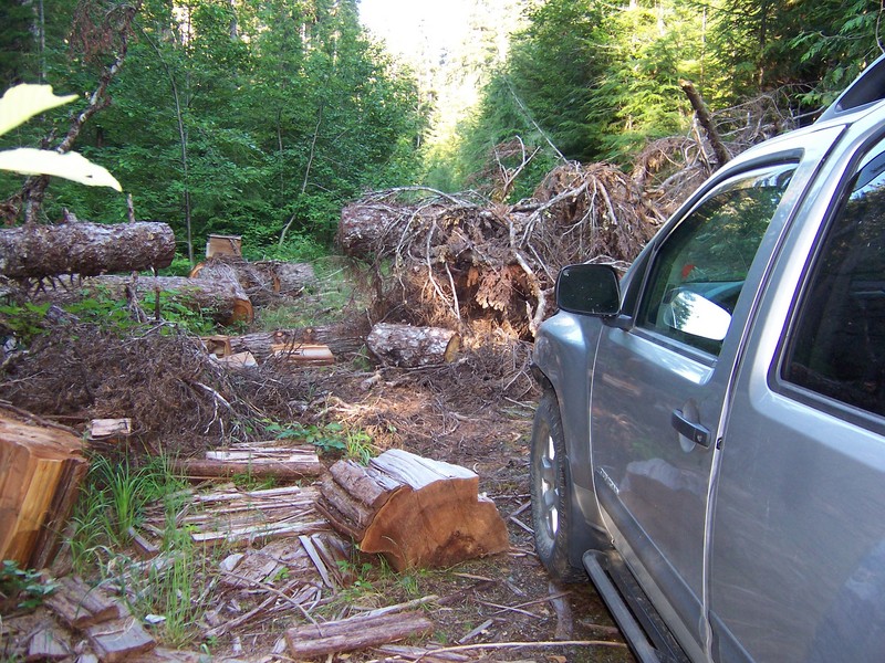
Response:
POLYGON ((25 224, 0 230, 0 274, 43 278, 94 276, 166 267, 175 257, 175 234, 166 223, 25 224))

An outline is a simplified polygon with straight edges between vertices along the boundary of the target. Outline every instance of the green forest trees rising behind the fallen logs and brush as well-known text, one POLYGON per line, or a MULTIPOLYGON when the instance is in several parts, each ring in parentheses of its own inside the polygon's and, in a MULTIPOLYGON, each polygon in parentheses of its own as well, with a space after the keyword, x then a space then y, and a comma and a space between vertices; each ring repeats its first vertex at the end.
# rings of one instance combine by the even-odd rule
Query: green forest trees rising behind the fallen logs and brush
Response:
MULTIPOLYGON (((4 90, 77 94, 75 113, 95 106, 76 149, 114 173, 139 219, 170 223, 183 255, 221 233, 310 257, 366 191, 424 183, 514 200, 564 160, 628 171, 649 141, 697 130, 684 81, 748 123, 766 99, 782 130, 812 122, 882 53, 872 0, 458 7, 457 34, 416 32, 397 48, 395 29, 364 27, 358 0, 10 0, 0 76, 4 90), (496 190, 502 168, 519 177, 496 190)), ((2 147, 53 148, 70 126, 59 108, 2 147)), ((7 223, 24 219, 22 182, 0 179, 7 223)), ((39 219, 63 208, 119 222, 126 197, 53 180, 39 219)))

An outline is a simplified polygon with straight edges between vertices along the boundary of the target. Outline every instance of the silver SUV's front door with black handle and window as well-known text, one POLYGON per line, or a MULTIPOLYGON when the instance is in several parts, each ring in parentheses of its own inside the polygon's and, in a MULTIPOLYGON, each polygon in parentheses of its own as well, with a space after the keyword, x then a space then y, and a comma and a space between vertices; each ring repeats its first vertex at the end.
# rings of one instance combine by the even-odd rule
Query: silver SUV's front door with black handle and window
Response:
MULTIPOLYGON (((836 135, 821 135, 816 157, 836 135)), ((766 269, 764 255, 754 263, 760 243, 760 253, 770 250, 814 171, 801 154, 720 180, 660 234, 646 273, 634 277, 633 325, 606 326, 595 355, 591 449, 602 517, 696 660, 706 656, 712 452, 745 333, 732 320, 746 319, 766 269)))

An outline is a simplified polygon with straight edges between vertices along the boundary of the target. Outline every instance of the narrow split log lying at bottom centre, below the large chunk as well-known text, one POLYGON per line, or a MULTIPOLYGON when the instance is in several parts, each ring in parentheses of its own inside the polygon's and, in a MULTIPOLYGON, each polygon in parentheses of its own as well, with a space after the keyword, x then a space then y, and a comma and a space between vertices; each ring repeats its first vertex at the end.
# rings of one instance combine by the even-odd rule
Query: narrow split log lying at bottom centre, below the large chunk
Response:
POLYGON ((285 641, 292 656, 302 661, 429 635, 433 630, 434 623, 423 613, 402 612, 296 627, 285 632, 285 641))

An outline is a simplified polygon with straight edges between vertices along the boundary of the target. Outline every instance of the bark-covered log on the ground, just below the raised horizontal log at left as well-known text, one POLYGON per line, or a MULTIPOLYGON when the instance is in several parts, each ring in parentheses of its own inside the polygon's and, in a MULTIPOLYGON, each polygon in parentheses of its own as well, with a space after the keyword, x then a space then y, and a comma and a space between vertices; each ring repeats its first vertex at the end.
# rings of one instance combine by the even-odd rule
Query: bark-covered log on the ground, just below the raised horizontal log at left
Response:
MULTIPOLYGON (((103 291, 112 297, 126 298, 126 288, 132 285, 131 276, 93 276, 83 281, 81 290, 93 294, 103 291)), ((254 316, 252 302, 236 281, 216 282, 184 276, 148 276, 135 281, 135 293, 139 301, 144 301, 146 296, 153 299, 157 288, 173 293, 176 302, 195 311, 202 311, 220 325, 251 323, 254 316)), ((59 298, 70 295, 71 293, 59 293, 59 298)), ((54 294, 50 292, 45 296, 54 298, 54 294)))

